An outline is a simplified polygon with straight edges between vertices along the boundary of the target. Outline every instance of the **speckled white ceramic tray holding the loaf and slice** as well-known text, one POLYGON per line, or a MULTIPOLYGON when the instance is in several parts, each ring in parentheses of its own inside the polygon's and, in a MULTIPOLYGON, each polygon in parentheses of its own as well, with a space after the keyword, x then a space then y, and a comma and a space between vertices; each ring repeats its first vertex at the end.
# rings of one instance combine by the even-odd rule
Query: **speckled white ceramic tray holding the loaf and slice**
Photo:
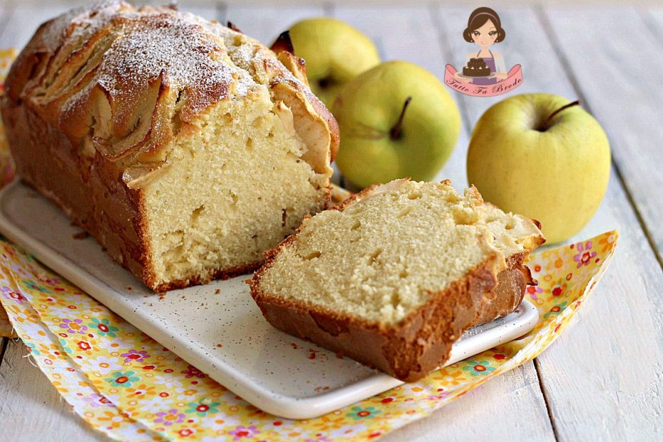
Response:
MULTIPOLYGON (((249 294, 246 275, 154 294, 93 238, 75 239, 81 230, 22 183, 0 194, 0 231, 185 361, 274 415, 312 418, 402 384, 272 328, 249 294)), ((535 307, 523 302, 507 317, 468 330, 453 346, 449 364, 522 336, 537 321, 535 307)))

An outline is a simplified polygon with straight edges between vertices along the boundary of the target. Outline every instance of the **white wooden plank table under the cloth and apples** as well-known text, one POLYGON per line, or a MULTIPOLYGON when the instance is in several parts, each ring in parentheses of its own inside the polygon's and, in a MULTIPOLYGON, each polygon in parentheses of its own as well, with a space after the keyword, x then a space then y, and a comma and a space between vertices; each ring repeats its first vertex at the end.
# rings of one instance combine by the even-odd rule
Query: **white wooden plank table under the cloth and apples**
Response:
MULTIPOLYGON (((38 24, 72 3, 0 3, 0 47, 22 47, 38 24)), ((384 59, 418 63, 440 78, 445 64, 462 64, 469 48, 461 32, 471 6, 306 4, 180 1, 180 8, 230 20, 268 43, 294 21, 334 16, 371 36, 384 59)), ((663 7, 491 6, 507 31, 500 52, 507 63, 523 66, 515 93, 581 98, 605 128, 613 154, 610 185, 577 239, 617 227, 620 245, 572 327, 535 361, 382 440, 662 441, 663 7)), ((463 131, 440 177, 461 187, 473 123, 504 97, 454 96, 463 131)), ((24 356, 20 341, 1 341, 0 440, 105 439, 68 411, 24 356)))

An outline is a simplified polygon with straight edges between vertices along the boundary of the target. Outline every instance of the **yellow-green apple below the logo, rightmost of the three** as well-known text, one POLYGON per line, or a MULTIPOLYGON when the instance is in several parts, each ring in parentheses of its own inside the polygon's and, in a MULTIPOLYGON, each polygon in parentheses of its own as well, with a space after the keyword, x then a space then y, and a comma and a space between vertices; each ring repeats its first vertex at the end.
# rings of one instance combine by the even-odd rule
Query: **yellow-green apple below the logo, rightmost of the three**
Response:
POLYGON ((468 181, 503 210, 538 220, 549 243, 592 218, 610 178, 610 145, 592 115, 560 96, 513 96, 473 130, 468 181))

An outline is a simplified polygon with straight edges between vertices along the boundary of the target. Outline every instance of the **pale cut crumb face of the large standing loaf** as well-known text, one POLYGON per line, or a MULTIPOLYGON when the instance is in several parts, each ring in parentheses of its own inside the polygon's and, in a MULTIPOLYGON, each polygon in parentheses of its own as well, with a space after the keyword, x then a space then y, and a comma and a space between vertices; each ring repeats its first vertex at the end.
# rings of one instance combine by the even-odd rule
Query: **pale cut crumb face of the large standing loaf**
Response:
POLYGON ((302 159, 292 113, 267 88, 222 101, 194 124, 144 188, 155 285, 255 267, 329 192, 328 175, 302 159))

